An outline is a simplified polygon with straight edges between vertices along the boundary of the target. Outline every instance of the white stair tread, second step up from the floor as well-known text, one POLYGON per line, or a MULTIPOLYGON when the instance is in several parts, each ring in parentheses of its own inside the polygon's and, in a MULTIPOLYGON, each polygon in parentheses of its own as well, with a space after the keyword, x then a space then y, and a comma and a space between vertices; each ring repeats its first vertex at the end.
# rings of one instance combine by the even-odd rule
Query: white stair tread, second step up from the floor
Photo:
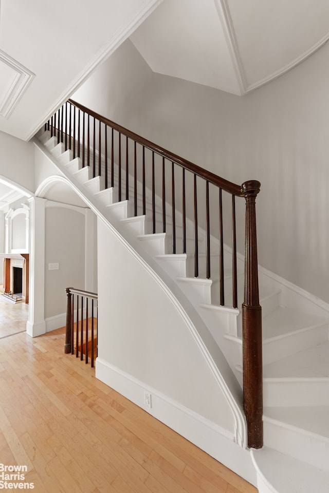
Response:
POLYGON ((265 407, 264 422, 277 421, 329 442, 329 406, 265 407))

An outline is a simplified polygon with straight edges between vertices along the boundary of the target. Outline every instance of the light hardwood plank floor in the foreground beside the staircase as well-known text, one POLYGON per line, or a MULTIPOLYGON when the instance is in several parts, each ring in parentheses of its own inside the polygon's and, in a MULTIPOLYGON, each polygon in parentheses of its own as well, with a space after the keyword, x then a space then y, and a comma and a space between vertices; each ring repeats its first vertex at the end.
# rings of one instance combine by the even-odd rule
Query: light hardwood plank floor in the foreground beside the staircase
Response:
POLYGON ((0 462, 35 493, 254 493, 64 354, 64 328, 0 340, 0 462))

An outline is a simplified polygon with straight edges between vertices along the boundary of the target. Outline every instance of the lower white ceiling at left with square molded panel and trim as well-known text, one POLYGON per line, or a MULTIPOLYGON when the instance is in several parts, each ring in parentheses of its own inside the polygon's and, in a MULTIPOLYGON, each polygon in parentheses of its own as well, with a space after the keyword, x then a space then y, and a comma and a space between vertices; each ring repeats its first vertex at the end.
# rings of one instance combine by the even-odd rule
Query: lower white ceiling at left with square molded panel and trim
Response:
POLYGON ((0 130, 29 140, 161 0, 0 0, 0 130))

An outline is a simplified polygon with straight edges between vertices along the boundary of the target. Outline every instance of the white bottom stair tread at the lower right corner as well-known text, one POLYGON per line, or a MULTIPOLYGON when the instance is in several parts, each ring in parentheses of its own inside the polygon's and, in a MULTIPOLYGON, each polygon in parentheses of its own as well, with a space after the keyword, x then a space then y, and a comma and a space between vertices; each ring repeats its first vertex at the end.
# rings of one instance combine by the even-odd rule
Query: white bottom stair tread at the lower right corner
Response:
POLYGON ((273 493, 327 493, 329 473, 268 447, 252 450, 253 461, 273 493))

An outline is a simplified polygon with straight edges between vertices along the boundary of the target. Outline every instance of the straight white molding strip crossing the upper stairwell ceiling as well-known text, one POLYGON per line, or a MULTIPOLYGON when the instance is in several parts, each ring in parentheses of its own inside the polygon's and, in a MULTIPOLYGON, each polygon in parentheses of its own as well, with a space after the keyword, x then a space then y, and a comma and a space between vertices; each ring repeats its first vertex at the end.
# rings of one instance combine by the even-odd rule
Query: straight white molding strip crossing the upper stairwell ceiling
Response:
POLYGON ((237 46, 232 17, 227 4, 227 0, 214 0, 214 3, 218 13, 218 17, 220 17, 236 80, 239 84, 240 95, 243 96, 247 89, 247 79, 245 70, 243 68, 239 47, 237 46))

